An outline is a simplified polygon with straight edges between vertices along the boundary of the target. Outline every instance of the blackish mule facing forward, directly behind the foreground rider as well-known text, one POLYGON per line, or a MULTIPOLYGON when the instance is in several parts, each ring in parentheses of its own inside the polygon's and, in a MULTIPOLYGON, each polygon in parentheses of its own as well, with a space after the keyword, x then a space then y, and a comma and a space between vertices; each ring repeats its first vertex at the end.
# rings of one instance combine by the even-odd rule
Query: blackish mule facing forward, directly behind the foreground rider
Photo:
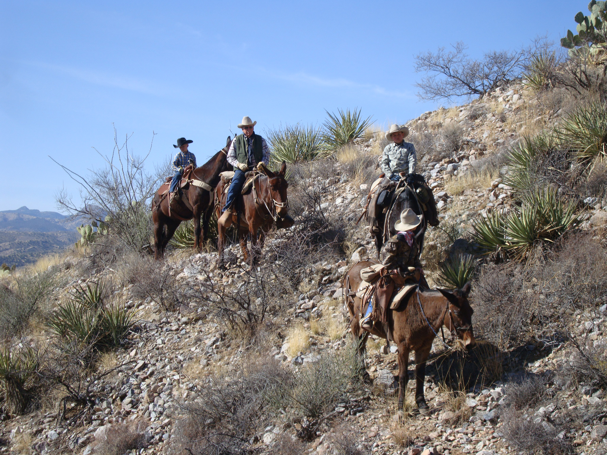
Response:
MULTIPOLYGON (((428 224, 430 224, 430 226, 438 226, 439 224, 438 210, 436 209, 436 202, 434 200, 434 195, 432 194, 432 189, 430 189, 424 178, 419 174, 413 174, 412 177, 410 177, 410 181, 411 183, 407 183, 407 186, 402 190, 401 194, 396 197, 396 200, 387 214, 384 214, 381 206, 373 207, 373 202, 375 202, 377 198, 371 198, 369 201, 370 207, 368 207, 367 211, 367 220, 371 224, 371 218, 375 217, 377 226, 379 227, 379 232, 371 231, 371 234, 375 237, 375 248, 378 252, 378 258, 384 242, 392 237, 392 235, 396 234, 394 225, 396 221, 400 220, 402 211, 412 209, 416 215, 423 215, 421 217, 421 224, 419 224, 414 231, 415 239, 419 244, 419 254, 422 253, 424 248, 424 236, 426 235, 428 224), (418 199, 416 193, 418 188, 423 188, 427 192, 427 195, 429 195, 425 204, 418 199)), ((402 184, 404 184, 404 181, 402 181, 402 184)))

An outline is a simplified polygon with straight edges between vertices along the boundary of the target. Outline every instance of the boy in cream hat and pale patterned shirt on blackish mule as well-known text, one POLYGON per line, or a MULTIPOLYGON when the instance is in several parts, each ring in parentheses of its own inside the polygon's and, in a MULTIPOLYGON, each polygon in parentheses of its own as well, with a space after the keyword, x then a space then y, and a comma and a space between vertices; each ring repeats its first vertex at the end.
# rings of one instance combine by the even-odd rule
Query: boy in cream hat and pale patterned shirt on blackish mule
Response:
POLYGON ((415 146, 404 141, 407 136, 409 136, 409 128, 406 126, 392 125, 385 133, 385 138, 390 144, 384 148, 380 166, 385 176, 390 180, 401 180, 401 172, 403 174, 413 174, 415 172, 417 155, 415 146))

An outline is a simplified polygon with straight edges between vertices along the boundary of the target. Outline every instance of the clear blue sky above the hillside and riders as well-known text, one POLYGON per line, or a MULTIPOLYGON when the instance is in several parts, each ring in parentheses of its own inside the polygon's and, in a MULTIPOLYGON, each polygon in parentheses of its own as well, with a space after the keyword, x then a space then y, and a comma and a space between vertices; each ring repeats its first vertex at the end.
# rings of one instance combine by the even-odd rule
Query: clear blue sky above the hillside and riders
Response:
POLYGON ((192 139, 199 164, 239 132, 321 124, 359 107, 378 124, 436 109, 413 57, 464 41, 472 56, 558 42, 587 1, 64 2, 0 0, 0 210, 56 210, 76 172, 103 166, 115 125, 151 165, 192 139), (25 175, 26 178, 23 178, 25 175))

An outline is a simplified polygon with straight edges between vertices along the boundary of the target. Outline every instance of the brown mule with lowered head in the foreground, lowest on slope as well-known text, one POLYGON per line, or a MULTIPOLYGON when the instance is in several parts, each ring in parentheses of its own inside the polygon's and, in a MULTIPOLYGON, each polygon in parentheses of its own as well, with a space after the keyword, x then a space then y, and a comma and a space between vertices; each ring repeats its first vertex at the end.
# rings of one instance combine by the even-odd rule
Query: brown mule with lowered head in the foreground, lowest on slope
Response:
MULTIPOLYGON (((361 269, 373 264, 371 261, 356 263, 345 275, 344 288, 356 291, 361 283, 361 269)), ((419 411, 427 412, 428 405, 424 398, 424 377, 426 376, 426 360, 432 349, 436 333, 444 325, 447 330, 462 340, 466 349, 472 349, 476 341, 472 331, 473 309, 468 302, 470 283, 462 289, 419 289, 412 291, 399 308, 388 309, 388 328, 394 338, 392 341, 398 348, 398 406, 402 408, 404 394, 407 388, 409 374, 409 353, 415 351, 415 401, 419 411)), ((359 343, 359 354, 364 355, 369 332, 364 331, 361 320, 361 299, 346 295, 348 312, 350 313, 350 328, 354 341, 359 343)), ((386 335, 381 325, 375 324, 371 331, 373 335, 385 339, 386 335)))

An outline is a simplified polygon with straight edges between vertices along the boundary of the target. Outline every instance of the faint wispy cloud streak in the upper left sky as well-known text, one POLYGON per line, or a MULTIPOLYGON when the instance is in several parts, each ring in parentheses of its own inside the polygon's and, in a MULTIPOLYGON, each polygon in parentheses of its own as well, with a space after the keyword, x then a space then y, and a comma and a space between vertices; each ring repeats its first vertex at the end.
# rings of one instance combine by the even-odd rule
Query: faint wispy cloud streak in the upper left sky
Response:
POLYGON ((164 86, 155 81, 149 81, 131 76, 116 75, 112 73, 81 69, 71 66, 49 64, 44 62, 26 62, 30 66, 53 71, 75 79, 80 79, 90 84, 103 87, 114 87, 117 89, 131 90, 133 92, 146 93, 148 95, 168 95, 174 93, 173 87, 164 86))

